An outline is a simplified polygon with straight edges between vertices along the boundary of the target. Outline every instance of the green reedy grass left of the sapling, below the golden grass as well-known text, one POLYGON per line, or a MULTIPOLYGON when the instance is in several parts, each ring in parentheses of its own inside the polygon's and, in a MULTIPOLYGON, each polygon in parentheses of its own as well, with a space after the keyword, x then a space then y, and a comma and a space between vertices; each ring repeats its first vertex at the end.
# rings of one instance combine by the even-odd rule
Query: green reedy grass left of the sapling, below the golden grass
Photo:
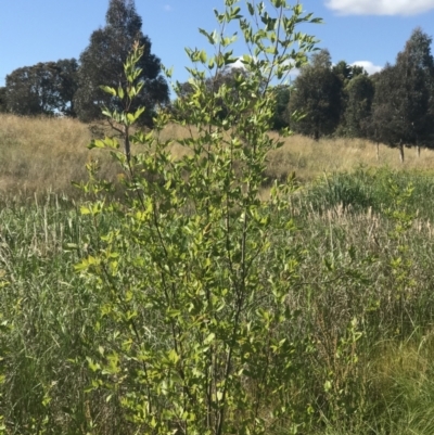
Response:
POLYGON ((0 433, 86 433, 95 307, 73 265, 89 221, 50 195, 26 205, 2 197, 0 217, 0 433))

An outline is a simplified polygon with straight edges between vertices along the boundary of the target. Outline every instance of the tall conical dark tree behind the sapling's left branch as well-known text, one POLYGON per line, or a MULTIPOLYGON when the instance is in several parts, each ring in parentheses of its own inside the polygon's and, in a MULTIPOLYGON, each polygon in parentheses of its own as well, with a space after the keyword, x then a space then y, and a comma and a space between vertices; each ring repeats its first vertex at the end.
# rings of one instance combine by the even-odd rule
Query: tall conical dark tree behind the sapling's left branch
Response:
POLYGON ((125 85, 124 63, 138 41, 144 48, 139 64, 144 89, 131 110, 144 105, 143 119, 151 124, 155 105, 168 102, 168 86, 161 75, 159 59, 152 54, 151 41, 141 30, 142 20, 133 0, 111 0, 105 18, 105 26, 92 33, 90 44, 80 55, 79 87, 74 100, 77 115, 81 120, 90 121, 101 117, 101 106, 122 110, 116 99, 102 91, 100 86, 117 89, 125 85))

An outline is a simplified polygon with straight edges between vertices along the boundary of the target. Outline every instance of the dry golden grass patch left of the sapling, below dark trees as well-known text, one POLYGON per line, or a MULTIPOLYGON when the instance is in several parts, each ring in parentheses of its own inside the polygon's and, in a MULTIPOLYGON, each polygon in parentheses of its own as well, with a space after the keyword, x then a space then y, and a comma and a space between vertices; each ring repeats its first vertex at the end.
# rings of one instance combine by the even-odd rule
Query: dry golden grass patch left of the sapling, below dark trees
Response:
MULTIPOLYGON (((86 180, 86 162, 99 156, 87 149, 91 129, 69 118, 0 115, 0 192, 74 193, 71 182, 86 180)), ((102 174, 111 177, 114 165, 100 158, 102 174)))

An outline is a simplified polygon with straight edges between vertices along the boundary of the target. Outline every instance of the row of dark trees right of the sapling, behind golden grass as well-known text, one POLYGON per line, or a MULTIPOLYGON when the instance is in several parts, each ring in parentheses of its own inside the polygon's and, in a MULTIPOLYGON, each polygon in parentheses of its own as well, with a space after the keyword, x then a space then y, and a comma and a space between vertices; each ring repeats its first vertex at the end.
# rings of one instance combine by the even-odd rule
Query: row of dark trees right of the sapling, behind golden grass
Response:
POLYGON ((376 74, 342 61, 332 65, 321 50, 302 68, 290 92, 288 113, 304 117, 288 125, 315 139, 366 138, 399 150, 434 148, 434 59, 432 38, 416 28, 394 65, 376 74))

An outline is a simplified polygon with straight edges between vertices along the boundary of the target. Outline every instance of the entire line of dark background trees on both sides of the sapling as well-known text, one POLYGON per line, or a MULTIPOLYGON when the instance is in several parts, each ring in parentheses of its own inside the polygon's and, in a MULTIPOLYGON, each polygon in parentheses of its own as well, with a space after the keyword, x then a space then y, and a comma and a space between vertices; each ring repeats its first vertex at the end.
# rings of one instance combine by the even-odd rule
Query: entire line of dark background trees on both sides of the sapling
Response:
MULTIPOLYGON (((144 90, 135 104, 146 107, 143 123, 152 124, 153 110, 158 104, 170 108, 177 118, 186 117, 177 107, 192 88, 189 82, 178 84, 177 100, 169 102, 161 61, 141 30, 142 20, 133 0, 110 0, 105 18, 105 26, 92 33, 78 61, 38 63, 9 74, 5 87, 0 88, 0 112, 77 116, 91 121, 101 117, 101 106, 122 111, 100 85, 115 89, 125 85, 124 62, 132 43, 139 41, 144 47, 139 65, 144 90)), ((416 28, 395 64, 386 64, 372 76, 345 61, 333 65, 328 50, 317 52, 291 86, 275 88, 272 128, 290 127, 316 140, 330 136, 366 138, 399 149, 401 159, 405 146, 416 146, 418 151, 421 146, 434 148, 431 42, 430 36, 416 28), (294 112, 303 116, 292 118, 294 112)), ((245 74, 242 68, 227 68, 209 78, 206 86, 216 95, 224 84, 234 92, 237 87, 232 85, 240 73, 245 74)), ((227 112, 222 103, 219 116, 225 118, 227 112)))

